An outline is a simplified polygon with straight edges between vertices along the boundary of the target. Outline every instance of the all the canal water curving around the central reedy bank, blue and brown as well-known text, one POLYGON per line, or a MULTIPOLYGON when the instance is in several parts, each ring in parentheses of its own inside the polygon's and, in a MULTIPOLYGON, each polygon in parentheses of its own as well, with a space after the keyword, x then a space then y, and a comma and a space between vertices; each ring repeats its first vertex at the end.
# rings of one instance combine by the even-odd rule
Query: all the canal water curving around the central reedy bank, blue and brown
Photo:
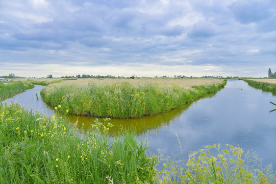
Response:
MULTIPOLYGON (((35 88, 6 100, 21 106, 28 106, 51 116, 55 111, 40 98, 43 86, 35 88), (38 100, 36 95, 38 95, 38 100)), ((276 166, 276 102, 271 93, 250 87, 242 80, 228 80, 227 85, 216 94, 211 94, 182 108, 171 110, 155 116, 140 119, 112 119, 114 125, 111 136, 122 128, 134 128, 139 137, 147 140, 149 151, 170 157, 181 153, 184 159, 188 154, 207 145, 226 144, 240 147, 244 151, 252 150, 264 165, 276 166), (179 141, 178 141, 179 137, 179 141)), ((69 122, 78 120, 79 126, 90 126, 95 118, 67 116, 69 122)), ((101 121, 101 119, 99 119, 101 121)))

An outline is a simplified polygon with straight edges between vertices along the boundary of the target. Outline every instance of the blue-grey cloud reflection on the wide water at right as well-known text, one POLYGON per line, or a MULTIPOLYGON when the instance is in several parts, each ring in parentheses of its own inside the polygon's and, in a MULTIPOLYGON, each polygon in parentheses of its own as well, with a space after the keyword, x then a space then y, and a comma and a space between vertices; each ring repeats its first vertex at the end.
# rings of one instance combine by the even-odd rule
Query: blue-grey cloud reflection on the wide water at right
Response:
POLYGON ((206 145, 220 143, 225 148, 225 144, 239 144, 244 151, 256 151, 265 164, 274 162, 276 165, 276 160, 271 160, 271 155, 276 151, 276 124, 273 123, 276 113, 274 116, 269 113, 268 104, 268 99, 276 101, 276 97, 252 90, 244 81, 228 81, 227 85, 238 85, 244 90, 228 93, 225 87, 214 98, 193 103, 181 117, 169 124, 167 131, 161 128, 160 132, 166 135, 160 134, 158 142, 149 137, 152 150, 162 148, 164 154, 171 156, 179 153, 176 132, 186 158, 190 151, 197 151, 206 145))

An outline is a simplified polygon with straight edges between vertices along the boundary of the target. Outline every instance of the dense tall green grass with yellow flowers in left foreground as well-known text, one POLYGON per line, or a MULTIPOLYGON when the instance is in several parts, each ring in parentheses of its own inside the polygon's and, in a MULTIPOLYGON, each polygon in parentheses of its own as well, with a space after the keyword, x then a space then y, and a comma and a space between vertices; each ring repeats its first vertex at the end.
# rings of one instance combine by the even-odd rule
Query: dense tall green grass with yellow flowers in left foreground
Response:
POLYGON ((133 132, 113 139, 95 122, 86 134, 56 115, 0 105, 0 183, 154 183, 155 157, 133 132))

